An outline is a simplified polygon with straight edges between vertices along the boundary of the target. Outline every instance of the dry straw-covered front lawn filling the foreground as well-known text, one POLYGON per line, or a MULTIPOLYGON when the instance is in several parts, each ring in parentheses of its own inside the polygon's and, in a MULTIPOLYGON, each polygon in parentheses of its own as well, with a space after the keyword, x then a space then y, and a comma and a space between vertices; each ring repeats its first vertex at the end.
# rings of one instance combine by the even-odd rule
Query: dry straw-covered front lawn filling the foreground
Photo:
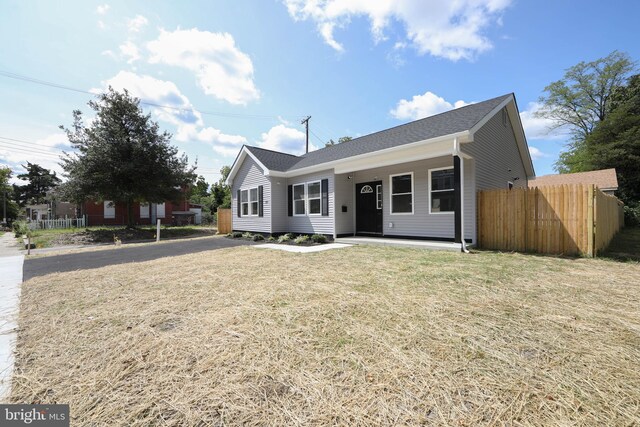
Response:
POLYGON ((72 425, 640 424, 640 265, 251 247, 23 286, 13 402, 72 425))

